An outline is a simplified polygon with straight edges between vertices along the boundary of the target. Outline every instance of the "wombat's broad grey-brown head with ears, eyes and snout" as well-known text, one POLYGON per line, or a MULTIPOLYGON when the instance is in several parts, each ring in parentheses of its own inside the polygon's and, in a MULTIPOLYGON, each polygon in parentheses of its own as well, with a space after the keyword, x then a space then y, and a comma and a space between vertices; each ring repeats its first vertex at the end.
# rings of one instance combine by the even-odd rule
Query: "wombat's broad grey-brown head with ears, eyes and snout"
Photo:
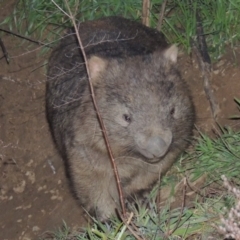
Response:
MULTIPOLYGON (((89 70, 96 100, 115 157, 161 160, 183 150, 193 127, 194 110, 175 65, 177 48, 127 59, 92 56, 89 70)), ((95 147, 105 151, 104 144, 95 147)))

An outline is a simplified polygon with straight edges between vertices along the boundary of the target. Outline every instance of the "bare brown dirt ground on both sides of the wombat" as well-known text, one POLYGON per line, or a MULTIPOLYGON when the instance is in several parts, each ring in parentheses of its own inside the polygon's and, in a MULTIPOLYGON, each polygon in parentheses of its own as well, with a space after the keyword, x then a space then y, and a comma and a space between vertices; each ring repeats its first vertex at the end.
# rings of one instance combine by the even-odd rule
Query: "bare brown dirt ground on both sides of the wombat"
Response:
MULTIPOLYGON (((3 1, 6 9, 14 1, 3 1)), ((0 236, 4 240, 38 239, 54 231, 63 220, 70 227, 83 223, 83 213, 73 198, 61 158, 56 152, 45 117, 45 63, 36 46, 7 34, 1 39, 10 56, 0 50, 0 236), (44 66, 43 66, 44 65, 44 66)), ((229 49, 213 67, 212 87, 220 105, 218 122, 239 129, 240 115, 234 97, 240 98, 240 48, 236 58, 229 49)), ((197 112, 197 128, 216 128, 203 90, 196 61, 181 55, 179 65, 189 83, 197 112)))

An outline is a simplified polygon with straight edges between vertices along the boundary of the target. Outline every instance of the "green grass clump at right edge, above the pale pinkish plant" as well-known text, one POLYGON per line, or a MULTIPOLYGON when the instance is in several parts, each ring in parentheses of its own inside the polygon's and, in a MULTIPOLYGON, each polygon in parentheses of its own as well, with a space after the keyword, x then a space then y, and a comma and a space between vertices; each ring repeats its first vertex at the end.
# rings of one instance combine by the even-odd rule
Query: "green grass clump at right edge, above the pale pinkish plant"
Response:
POLYGON ((222 175, 240 184, 240 132, 222 128, 222 134, 211 139, 201 134, 195 149, 181 160, 182 171, 191 172, 193 180, 207 174, 211 181, 220 181, 222 175))

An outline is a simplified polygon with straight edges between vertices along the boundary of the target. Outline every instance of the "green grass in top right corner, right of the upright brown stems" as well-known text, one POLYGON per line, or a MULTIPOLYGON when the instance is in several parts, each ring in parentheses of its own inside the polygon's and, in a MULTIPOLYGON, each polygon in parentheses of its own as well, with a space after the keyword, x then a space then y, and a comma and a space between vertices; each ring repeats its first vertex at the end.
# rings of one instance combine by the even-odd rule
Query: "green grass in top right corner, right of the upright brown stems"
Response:
POLYGON ((170 41, 183 45, 190 52, 192 42, 196 42, 196 13, 201 18, 208 50, 213 59, 221 56, 226 44, 233 47, 239 41, 239 0, 169 1, 162 31, 170 41))

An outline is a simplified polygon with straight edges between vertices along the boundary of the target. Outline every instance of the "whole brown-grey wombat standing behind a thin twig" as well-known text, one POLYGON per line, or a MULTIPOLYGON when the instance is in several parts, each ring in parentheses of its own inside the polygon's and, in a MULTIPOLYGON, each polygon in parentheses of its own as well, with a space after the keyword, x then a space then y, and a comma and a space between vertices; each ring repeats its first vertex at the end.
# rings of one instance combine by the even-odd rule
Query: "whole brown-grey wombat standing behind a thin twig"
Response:
MULTIPOLYGON (((107 17, 79 25, 91 81, 125 199, 143 197, 187 147, 194 108, 177 48, 140 23, 107 17)), ((48 64, 47 118, 81 205, 99 220, 119 194, 74 30, 48 64)))

